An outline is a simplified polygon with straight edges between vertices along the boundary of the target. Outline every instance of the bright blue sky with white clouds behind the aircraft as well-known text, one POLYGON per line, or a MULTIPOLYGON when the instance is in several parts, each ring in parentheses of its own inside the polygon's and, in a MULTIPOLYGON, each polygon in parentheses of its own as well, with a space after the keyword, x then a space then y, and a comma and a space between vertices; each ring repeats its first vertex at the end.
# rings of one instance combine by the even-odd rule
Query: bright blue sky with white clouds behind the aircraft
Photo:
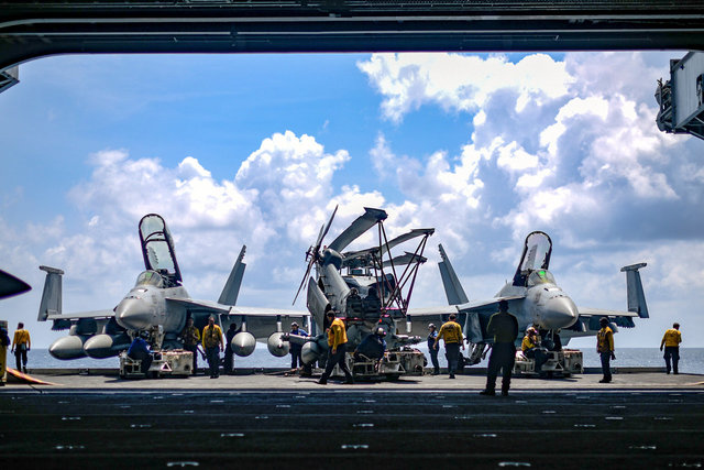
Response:
POLYGON ((36 321, 42 264, 66 272, 65 313, 114 307, 144 267, 138 223, 150 212, 169 226, 191 297, 217 299, 246 244, 238 304, 290 308, 305 252, 339 205, 330 240, 363 207, 388 212, 391 237, 436 228, 411 307, 447 302, 438 243, 483 299, 542 230, 579 306, 626 309, 619 269, 648 263, 651 318, 622 329, 617 348, 658 347, 673 321, 683 347, 704 347, 704 142, 654 123, 657 79, 683 55, 25 63, 0 94, 0 269, 33 289, 0 302, 0 319, 11 331, 24 321, 35 347, 66 335, 36 321))

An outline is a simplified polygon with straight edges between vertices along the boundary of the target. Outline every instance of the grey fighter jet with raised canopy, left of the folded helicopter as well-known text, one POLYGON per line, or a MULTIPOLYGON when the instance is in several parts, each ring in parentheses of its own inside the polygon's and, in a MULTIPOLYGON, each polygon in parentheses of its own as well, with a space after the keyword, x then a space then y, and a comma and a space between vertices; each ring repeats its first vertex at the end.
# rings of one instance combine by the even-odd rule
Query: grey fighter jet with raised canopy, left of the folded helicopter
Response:
MULTIPOLYGON (((46 272, 44 293, 40 306, 38 321, 52 320, 54 330, 68 329, 69 335, 56 340, 50 353, 57 359, 76 359, 89 356, 96 359, 117 356, 130 346, 141 331, 157 330, 161 349, 183 347, 179 334, 188 318, 202 329, 210 315, 216 323, 229 327, 241 326, 232 339, 235 354, 245 357, 254 351, 256 339, 267 338, 272 354, 288 353, 288 342, 282 341, 284 321, 304 324, 309 318, 305 311, 289 309, 235 306, 244 275, 245 247, 232 267, 217 302, 196 300, 189 297, 182 285, 182 274, 176 261, 174 240, 164 219, 150 214, 139 225, 142 256, 145 271, 134 287, 112 309, 63 314, 62 270, 40 266, 46 272)), ((224 329, 224 328, 223 328, 224 329)))

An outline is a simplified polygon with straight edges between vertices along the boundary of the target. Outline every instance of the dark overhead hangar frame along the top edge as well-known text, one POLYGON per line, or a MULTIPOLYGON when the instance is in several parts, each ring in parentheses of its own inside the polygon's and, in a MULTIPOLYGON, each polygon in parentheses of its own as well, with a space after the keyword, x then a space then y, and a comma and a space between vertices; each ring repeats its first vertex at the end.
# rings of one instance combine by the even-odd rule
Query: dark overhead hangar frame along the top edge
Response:
POLYGON ((0 0, 0 72, 54 54, 703 45, 702 0, 0 0))

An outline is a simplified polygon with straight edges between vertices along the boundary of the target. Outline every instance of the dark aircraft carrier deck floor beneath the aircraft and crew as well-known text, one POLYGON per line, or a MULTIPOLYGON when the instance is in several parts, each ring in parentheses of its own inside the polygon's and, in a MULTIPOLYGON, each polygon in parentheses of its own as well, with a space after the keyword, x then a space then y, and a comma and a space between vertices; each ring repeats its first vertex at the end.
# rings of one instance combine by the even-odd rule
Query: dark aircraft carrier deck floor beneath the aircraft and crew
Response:
POLYGON ((3 467, 704 467, 704 375, 518 378, 487 397, 481 371, 324 386, 47 372, 32 375, 56 385, 0 389, 3 467))

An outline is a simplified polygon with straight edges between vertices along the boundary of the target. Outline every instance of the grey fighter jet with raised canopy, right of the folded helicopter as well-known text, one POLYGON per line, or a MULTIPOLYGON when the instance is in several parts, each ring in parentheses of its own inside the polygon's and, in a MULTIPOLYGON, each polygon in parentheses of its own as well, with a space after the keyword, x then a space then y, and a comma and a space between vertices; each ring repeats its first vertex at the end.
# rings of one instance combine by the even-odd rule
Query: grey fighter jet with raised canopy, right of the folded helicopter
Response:
POLYGON ((628 311, 578 307, 548 271, 552 240, 547 233, 535 231, 526 237, 513 281, 507 282, 494 298, 470 302, 441 244, 439 249, 442 261, 438 264, 449 306, 414 308, 408 316, 413 318, 414 328, 422 331, 429 320, 447 320, 450 314, 457 314, 472 346, 470 357, 465 359, 470 364, 479 363, 487 345, 493 342, 486 334, 486 325, 498 310, 499 300, 508 302, 508 310, 518 318, 519 330, 538 326, 550 337, 558 335, 563 346, 573 337, 596 335, 602 317, 609 318, 614 331, 618 330, 617 326, 634 327, 635 317, 649 317, 638 271, 646 263, 622 267, 622 272, 626 272, 628 311))

